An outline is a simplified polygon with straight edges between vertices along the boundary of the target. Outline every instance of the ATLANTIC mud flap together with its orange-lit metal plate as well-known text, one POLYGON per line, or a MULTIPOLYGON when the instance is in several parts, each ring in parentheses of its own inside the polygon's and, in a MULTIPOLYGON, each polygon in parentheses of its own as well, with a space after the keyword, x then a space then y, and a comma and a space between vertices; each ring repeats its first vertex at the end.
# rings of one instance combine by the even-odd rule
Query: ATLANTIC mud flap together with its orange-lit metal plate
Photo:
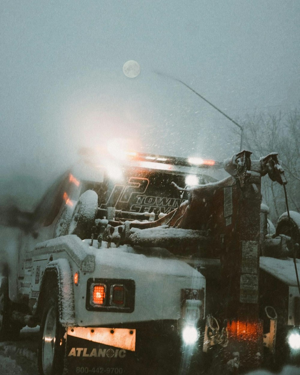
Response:
MULTIPOLYGON (((119 346, 116 342, 105 338, 102 343, 92 341, 93 335, 102 330, 97 328, 69 327, 66 338, 65 372, 64 375, 78 374, 122 374, 122 375, 175 375, 178 374, 180 363, 180 342, 174 332, 167 334, 162 329, 156 330, 155 325, 148 329, 109 329, 114 335, 120 330, 119 346), (74 329, 71 333, 70 330, 74 329), (81 335, 81 330, 83 333, 81 335), (78 332, 77 332, 78 331, 78 332), (123 331, 123 332, 122 332, 123 331), (126 338, 126 331, 136 334, 135 347, 126 338), (124 333, 124 335, 123 335, 124 333), (72 336, 76 334, 77 336, 72 336), (78 337, 78 336, 81 336, 78 337), (103 343, 105 342, 105 343, 103 343), (114 345, 114 346, 113 346, 114 345), (128 348, 132 350, 128 350, 128 348)), ((104 334, 105 336, 105 334, 104 334)), ((96 340, 96 338, 93 338, 96 340)), ((100 341, 100 340, 98 340, 100 341)))

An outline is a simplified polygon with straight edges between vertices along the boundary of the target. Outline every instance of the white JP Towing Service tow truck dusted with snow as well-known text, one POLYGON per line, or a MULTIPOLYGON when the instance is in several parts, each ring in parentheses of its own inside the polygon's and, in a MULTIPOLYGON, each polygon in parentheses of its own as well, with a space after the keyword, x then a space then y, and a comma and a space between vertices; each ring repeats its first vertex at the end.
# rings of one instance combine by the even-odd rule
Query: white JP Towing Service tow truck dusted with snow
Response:
POLYGON ((1 264, 0 339, 39 324, 40 375, 245 371, 291 335, 297 352, 295 278, 276 268, 293 262, 264 257, 266 174, 286 183, 276 153, 81 160, 7 219, 23 236, 1 264))

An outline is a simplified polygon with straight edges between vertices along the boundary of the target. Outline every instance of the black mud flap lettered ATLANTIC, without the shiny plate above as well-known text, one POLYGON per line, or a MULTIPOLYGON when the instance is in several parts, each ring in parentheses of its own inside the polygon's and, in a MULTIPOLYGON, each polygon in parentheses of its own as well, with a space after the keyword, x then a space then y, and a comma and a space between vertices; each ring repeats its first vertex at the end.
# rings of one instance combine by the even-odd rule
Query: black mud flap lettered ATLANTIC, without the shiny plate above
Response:
POLYGON ((157 341, 143 345, 138 340, 136 351, 130 351, 68 335, 64 375, 175 375, 179 366, 170 358, 170 346, 169 341, 166 348, 157 341))

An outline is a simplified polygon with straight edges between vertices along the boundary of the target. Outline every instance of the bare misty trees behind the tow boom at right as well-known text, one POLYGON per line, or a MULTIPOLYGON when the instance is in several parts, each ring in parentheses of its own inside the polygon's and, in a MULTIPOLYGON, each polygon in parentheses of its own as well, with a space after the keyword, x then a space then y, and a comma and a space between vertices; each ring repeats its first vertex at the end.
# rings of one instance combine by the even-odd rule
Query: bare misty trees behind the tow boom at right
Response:
MULTIPOLYGON (((300 110, 273 114, 254 113, 243 123, 243 148, 255 158, 278 152, 288 180, 291 210, 300 211, 300 110)), ((282 186, 269 178, 262 181, 263 201, 270 207, 273 222, 286 211, 282 186)))

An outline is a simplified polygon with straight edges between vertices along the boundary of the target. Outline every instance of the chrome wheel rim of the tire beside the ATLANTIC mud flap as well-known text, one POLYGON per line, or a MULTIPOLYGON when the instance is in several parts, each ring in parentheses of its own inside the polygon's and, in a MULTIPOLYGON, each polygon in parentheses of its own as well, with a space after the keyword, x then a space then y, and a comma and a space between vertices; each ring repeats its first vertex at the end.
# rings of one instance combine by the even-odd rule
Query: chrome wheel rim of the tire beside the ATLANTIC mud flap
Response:
POLYGON ((54 359, 55 347, 55 332, 56 332, 56 314, 54 306, 48 310, 45 326, 43 330, 42 341, 42 365, 43 373, 51 375, 52 363, 54 359))

